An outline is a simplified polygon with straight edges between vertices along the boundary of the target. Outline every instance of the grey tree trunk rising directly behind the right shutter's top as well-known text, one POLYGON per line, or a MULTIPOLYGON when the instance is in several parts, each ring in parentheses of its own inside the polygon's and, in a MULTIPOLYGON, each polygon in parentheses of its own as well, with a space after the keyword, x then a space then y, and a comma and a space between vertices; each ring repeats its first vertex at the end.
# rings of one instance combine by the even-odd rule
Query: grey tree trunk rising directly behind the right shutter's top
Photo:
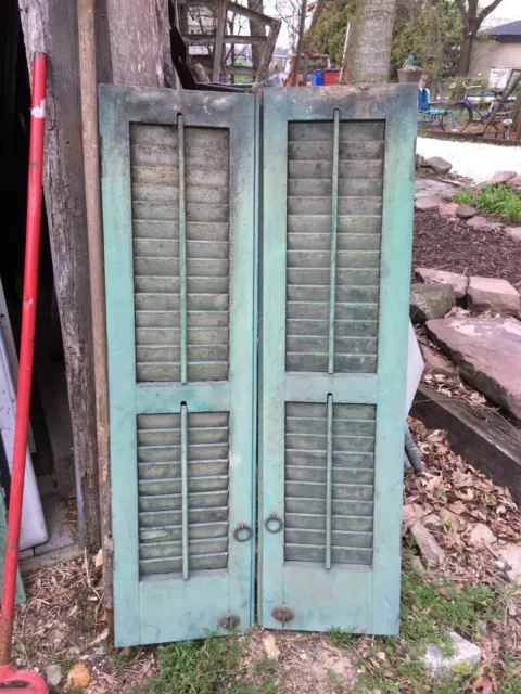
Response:
POLYGON ((396 0, 357 0, 342 81, 386 82, 396 0))

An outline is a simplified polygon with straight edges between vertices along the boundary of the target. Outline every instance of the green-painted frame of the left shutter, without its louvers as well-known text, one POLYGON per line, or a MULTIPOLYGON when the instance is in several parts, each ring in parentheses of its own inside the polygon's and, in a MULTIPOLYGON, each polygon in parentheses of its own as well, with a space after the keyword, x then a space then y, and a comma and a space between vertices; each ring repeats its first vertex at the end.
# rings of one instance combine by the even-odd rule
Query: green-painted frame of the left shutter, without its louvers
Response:
POLYGON ((199 638, 208 629, 227 633, 219 626, 217 616, 226 617, 230 612, 240 615, 238 628, 244 630, 253 619, 255 561, 254 457, 247 460, 247 452, 254 445, 255 396, 255 98, 251 94, 207 94, 106 85, 99 89, 106 320, 110 359, 112 357, 109 388, 115 643, 123 646, 199 638), (230 317, 233 301, 234 310, 243 312, 241 330, 239 334, 238 325, 232 329, 230 324, 228 382, 189 382, 187 385, 138 383, 129 124, 176 125, 181 112, 186 127, 220 127, 230 131, 230 163, 234 163, 229 169, 230 264, 237 262, 239 268, 230 271, 230 317), (232 226, 236 228, 233 239, 240 239, 240 243, 232 243, 232 226), (239 387, 238 373, 241 370, 251 373, 251 387, 239 387), (167 606, 176 581, 181 580, 182 584, 182 578, 164 575, 154 577, 154 580, 140 580, 139 576, 136 415, 179 413, 183 402, 188 404, 189 412, 230 412, 228 569, 212 570, 205 576, 198 576, 191 583, 185 582, 187 599, 196 601, 199 620, 193 615, 168 614, 167 606), (234 422, 236 419, 239 421, 234 422), (233 425, 237 425, 236 435, 232 434, 233 425), (244 474, 233 474, 233 468, 238 467, 245 468, 244 474), (252 526, 251 541, 233 541, 237 518, 252 526), (217 573, 221 576, 228 573, 229 580, 219 581, 217 573), (218 589, 215 588, 217 583, 218 589))

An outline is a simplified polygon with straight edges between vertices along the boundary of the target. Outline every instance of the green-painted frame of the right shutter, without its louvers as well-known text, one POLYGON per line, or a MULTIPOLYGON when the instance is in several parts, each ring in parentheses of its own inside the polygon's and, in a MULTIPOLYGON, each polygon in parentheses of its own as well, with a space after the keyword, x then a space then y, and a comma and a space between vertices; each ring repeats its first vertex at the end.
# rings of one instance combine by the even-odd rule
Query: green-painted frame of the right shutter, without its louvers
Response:
MULTIPOLYGON (((266 90, 264 95, 258 615, 267 628, 283 626, 272 613, 288 605, 298 613, 289 628, 335 626, 378 634, 398 633, 416 99, 416 88, 405 85, 266 90), (341 121, 385 121, 378 370, 374 375, 293 372, 287 376, 288 123, 332 121, 335 110, 341 121), (352 620, 323 625, 318 596, 310 594, 306 584, 305 568, 284 563, 283 532, 267 531, 265 522, 274 513, 284 517, 285 402, 295 398, 326 402, 328 394, 333 394, 334 401, 377 404, 378 414, 372 566, 329 573, 329 586, 336 594, 345 591, 339 614, 344 618, 350 615, 352 620), (291 573, 289 590, 284 587, 284 571, 291 573)), ((327 586, 325 580, 325 590, 327 586)))

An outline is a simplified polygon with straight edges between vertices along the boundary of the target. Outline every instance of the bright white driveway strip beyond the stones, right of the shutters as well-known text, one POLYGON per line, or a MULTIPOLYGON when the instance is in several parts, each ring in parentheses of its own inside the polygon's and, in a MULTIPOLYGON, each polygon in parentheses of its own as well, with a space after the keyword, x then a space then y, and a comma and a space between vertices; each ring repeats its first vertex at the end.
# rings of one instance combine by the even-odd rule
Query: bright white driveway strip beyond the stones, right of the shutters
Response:
POLYGON ((521 146, 418 138, 417 151, 425 159, 430 156, 443 157, 453 165, 452 174, 458 174, 474 181, 486 181, 496 171, 521 174, 521 146))

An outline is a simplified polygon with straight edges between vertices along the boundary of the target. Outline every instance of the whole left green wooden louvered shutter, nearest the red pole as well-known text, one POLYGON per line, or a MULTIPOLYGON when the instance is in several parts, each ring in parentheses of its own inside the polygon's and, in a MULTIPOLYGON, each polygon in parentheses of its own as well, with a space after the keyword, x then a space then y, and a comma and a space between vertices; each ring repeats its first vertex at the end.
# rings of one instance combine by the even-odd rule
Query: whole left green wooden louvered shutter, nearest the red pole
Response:
POLYGON ((255 99, 100 103, 116 644, 247 629, 255 99))

